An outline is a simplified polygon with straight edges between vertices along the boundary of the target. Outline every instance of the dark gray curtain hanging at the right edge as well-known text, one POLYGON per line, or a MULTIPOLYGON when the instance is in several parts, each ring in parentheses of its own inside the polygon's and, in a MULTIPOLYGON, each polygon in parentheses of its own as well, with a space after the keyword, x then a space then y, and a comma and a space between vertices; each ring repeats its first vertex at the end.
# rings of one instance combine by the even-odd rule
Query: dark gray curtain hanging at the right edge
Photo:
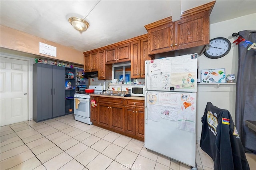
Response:
MULTIPOLYGON (((256 43, 256 33, 240 31, 240 37, 256 43)), ((256 153, 256 132, 246 120, 256 121, 256 49, 248 50, 244 42, 238 45, 238 75, 236 82, 235 125, 246 152, 256 153)))

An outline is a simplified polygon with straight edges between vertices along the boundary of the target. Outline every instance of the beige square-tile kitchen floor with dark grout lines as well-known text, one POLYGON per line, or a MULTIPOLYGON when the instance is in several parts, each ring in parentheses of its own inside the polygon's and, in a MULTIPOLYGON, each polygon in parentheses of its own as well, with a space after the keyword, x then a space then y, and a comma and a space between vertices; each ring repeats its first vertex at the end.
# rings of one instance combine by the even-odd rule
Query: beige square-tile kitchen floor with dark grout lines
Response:
MULTIPOLYGON (((0 130, 1 170, 190 170, 145 149, 142 141, 76 121, 73 114, 0 130)), ((256 156, 246 156, 251 170, 256 169, 256 156)), ((198 170, 212 170, 214 165, 198 144, 196 163, 198 170)))

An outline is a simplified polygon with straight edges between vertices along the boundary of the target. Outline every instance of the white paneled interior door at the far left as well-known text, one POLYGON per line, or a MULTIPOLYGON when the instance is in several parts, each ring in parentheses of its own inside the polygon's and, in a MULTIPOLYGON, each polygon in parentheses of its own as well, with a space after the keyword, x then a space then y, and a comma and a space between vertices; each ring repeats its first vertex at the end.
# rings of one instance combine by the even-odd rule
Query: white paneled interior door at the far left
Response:
POLYGON ((0 126, 28 120, 28 61, 0 57, 0 126))

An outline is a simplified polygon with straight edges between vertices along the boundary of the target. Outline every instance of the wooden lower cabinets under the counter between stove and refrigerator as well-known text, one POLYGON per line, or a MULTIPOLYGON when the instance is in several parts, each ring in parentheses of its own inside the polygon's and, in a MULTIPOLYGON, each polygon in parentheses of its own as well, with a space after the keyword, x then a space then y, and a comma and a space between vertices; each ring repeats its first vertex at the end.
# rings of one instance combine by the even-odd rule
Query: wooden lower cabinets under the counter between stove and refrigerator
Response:
POLYGON ((96 100, 96 107, 91 107, 93 125, 144 141, 144 100, 92 98, 96 100))

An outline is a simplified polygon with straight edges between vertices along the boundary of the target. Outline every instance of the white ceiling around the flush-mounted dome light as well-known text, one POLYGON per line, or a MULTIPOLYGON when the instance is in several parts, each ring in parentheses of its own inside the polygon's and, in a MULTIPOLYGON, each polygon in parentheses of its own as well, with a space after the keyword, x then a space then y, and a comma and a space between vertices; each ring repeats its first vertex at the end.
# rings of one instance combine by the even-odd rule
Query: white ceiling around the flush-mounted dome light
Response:
MULTIPOLYGON (((179 20, 181 12, 211 1, 101 0, 95 6, 96 0, 0 0, 0 24, 84 52, 143 35, 144 25, 169 16, 179 20), (87 14, 84 32, 68 22, 87 14)), ((217 0, 210 24, 253 13, 255 0, 217 0)))

